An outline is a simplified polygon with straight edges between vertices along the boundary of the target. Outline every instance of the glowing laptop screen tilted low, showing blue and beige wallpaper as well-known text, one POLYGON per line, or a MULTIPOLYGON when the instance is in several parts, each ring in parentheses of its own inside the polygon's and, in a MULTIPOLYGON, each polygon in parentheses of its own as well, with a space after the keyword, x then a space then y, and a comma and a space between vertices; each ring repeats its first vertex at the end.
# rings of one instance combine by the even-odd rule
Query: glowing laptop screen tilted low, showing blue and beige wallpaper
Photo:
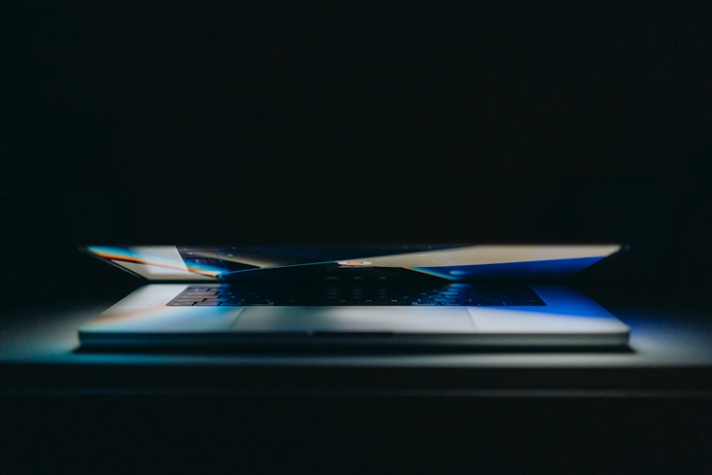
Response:
POLYGON ((386 244, 379 246, 86 246, 151 281, 568 278, 620 244, 386 244))

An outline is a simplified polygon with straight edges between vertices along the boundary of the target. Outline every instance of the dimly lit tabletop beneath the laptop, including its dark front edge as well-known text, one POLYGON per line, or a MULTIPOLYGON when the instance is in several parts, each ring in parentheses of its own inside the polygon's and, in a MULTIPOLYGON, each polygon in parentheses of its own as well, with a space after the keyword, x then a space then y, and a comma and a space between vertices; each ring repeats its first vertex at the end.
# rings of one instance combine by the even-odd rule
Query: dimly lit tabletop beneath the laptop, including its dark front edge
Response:
POLYGON ((592 294, 631 328, 623 351, 87 352, 76 329, 116 298, 11 311, 4 390, 712 394, 712 315, 685 298, 592 294), (226 378, 226 375, 234 377, 226 378))

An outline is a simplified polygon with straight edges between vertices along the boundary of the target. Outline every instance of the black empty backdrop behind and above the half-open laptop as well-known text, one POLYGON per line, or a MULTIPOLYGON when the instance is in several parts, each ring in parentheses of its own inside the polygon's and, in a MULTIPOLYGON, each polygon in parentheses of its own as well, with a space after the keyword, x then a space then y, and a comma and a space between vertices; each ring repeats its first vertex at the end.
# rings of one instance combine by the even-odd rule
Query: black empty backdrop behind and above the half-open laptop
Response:
POLYGON ((624 281, 712 263, 704 2, 3 10, 6 281, 115 276, 90 243, 623 241, 624 281))

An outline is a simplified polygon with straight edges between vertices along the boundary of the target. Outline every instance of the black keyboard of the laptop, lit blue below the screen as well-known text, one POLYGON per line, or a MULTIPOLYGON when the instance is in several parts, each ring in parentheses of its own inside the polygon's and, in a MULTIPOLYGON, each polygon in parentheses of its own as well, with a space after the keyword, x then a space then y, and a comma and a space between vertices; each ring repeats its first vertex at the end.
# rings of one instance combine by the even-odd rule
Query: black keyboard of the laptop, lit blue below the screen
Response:
POLYGON ((452 283, 439 287, 357 285, 196 285, 168 306, 545 306, 520 284, 452 283))

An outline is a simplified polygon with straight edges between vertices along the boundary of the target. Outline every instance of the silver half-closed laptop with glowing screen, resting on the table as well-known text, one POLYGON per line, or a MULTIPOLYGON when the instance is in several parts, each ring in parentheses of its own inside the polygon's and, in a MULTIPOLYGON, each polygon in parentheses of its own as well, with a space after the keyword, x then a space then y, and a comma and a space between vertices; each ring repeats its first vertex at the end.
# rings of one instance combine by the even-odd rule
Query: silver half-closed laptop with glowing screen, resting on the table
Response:
POLYGON ((83 347, 614 347, 566 282, 620 244, 84 246, 142 278, 83 347))

